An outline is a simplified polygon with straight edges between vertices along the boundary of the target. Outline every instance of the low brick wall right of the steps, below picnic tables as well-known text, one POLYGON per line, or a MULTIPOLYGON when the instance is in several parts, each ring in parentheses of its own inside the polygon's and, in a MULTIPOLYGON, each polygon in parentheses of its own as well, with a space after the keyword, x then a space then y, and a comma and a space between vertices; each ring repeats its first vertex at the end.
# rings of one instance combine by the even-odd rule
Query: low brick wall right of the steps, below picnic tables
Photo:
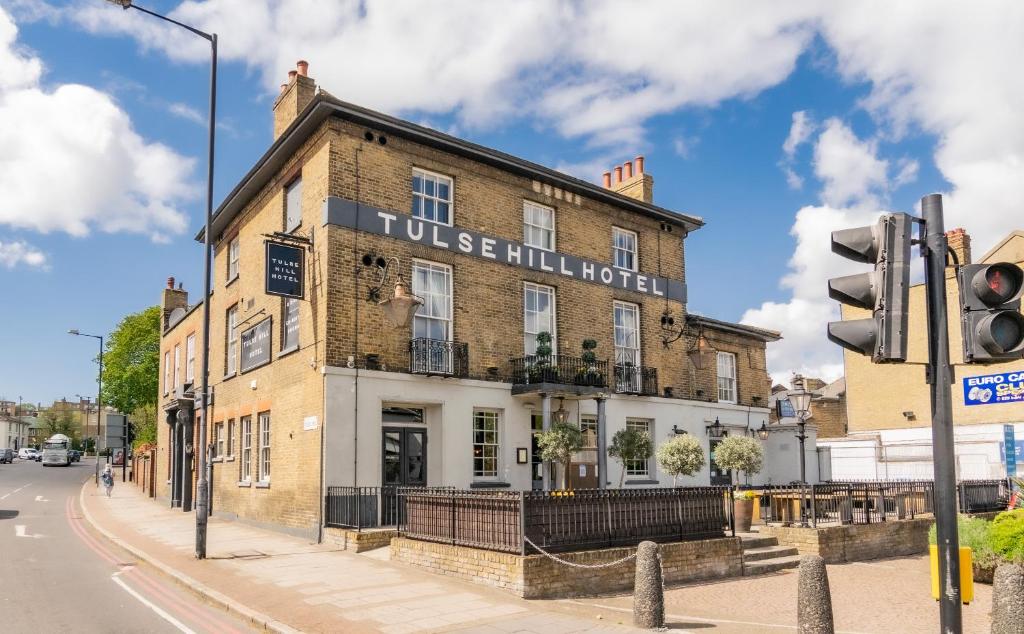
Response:
POLYGON ((843 563, 928 552, 928 530, 933 521, 922 517, 818 529, 769 525, 759 531, 778 539, 781 545, 795 546, 802 555, 816 554, 826 563, 843 563))

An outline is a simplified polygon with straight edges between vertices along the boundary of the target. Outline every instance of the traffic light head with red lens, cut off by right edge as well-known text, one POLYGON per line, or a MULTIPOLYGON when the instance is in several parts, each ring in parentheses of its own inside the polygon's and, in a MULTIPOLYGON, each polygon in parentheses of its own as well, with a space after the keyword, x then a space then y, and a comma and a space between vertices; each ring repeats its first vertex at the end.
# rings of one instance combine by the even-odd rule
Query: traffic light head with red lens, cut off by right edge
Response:
POLYGON ((1024 271, 1017 264, 966 264, 956 271, 964 363, 1024 357, 1020 313, 1024 271))

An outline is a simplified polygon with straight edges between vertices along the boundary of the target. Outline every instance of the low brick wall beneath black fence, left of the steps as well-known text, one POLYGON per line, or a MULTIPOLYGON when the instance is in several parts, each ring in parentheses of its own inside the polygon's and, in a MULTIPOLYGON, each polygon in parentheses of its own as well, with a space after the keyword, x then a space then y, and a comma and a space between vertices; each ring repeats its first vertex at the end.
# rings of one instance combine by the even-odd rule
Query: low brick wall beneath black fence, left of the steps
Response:
MULTIPOLYGON (((595 565, 622 559, 635 551, 635 547, 607 548, 562 553, 558 557, 595 565)), ((662 559, 667 584, 738 577, 743 569, 738 538, 662 544, 662 559)), ((406 538, 391 540, 391 560, 500 588, 527 599, 631 590, 635 574, 632 559, 614 566, 579 568, 544 555, 521 556, 406 538)))

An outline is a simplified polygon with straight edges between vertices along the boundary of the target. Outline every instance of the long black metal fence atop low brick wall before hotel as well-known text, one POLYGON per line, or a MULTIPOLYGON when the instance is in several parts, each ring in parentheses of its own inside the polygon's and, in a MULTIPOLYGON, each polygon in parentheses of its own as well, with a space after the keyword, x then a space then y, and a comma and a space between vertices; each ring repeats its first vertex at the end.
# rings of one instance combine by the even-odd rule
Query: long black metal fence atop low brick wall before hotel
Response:
POLYGON ((726 487, 571 492, 399 492, 406 537, 525 554, 723 537, 726 487))

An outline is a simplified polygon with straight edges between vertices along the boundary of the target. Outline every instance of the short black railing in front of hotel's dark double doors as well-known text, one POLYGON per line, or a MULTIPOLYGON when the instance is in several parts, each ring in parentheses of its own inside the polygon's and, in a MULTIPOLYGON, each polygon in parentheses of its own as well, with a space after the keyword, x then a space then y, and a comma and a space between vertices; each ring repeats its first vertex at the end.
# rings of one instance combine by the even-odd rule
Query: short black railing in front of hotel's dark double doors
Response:
POLYGON ((395 526, 404 515, 399 492, 452 491, 451 487, 328 487, 324 499, 324 525, 339 529, 395 526))

